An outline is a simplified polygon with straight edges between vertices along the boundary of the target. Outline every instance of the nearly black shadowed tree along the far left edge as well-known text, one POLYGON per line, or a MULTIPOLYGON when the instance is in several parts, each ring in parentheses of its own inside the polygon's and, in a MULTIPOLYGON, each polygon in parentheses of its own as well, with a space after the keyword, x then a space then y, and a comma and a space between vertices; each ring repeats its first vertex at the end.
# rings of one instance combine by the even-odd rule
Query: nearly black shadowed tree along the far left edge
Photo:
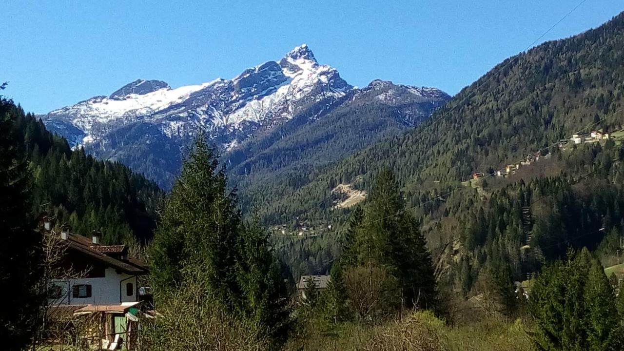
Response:
POLYGON ((30 171, 13 132, 15 106, 0 96, 0 309, 2 349, 20 350, 31 342, 42 304, 41 236, 34 230, 30 171))

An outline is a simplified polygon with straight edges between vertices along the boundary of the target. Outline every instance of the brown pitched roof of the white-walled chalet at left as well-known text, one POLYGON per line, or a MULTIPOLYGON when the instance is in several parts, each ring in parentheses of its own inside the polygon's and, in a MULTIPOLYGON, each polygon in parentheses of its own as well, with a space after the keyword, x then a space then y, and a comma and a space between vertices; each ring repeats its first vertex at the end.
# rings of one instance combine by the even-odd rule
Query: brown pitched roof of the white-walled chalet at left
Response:
POLYGON ((121 259, 118 257, 111 257, 110 254, 116 254, 121 249, 125 250, 125 245, 94 245, 89 238, 79 234, 69 234, 67 237, 67 244, 69 248, 79 254, 90 257, 99 261, 100 263, 120 270, 127 274, 141 275, 147 274, 148 269, 139 260, 135 259, 121 259), (104 247, 104 249, 100 249, 104 247))

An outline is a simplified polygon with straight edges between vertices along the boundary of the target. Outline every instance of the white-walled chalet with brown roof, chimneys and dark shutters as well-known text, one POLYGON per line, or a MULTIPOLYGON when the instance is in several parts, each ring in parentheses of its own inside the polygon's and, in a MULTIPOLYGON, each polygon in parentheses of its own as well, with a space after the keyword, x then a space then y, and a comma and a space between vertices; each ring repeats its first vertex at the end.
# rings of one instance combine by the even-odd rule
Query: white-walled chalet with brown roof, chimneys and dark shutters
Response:
POLYGON ((81 342, 90 349, 134 350, 141 299, 137 277, 149 273, 145 264, 129 257, 126 245, 102 245, 100 233, 84 237, 64 225, 51 229, 44 217, 44 234, 61 254, 52 262, 46 315, 51 324, 76 323, 92 327, 81 342))

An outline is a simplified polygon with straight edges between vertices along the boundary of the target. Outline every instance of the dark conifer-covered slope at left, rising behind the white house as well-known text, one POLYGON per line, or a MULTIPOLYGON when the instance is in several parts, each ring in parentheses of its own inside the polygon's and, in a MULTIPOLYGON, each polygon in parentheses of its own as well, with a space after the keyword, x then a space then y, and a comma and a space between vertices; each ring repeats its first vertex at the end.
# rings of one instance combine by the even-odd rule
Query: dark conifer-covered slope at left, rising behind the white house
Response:
POLYGON ((0 101, 0 113, 15 121, 15 134, 32 169, 33 217, 47 211, 80 234, 100 230, 106 243, 152 237, 155 210, 164 195, 155 182, 119 162, 72 150, 66 139, 11 101, 0 101))

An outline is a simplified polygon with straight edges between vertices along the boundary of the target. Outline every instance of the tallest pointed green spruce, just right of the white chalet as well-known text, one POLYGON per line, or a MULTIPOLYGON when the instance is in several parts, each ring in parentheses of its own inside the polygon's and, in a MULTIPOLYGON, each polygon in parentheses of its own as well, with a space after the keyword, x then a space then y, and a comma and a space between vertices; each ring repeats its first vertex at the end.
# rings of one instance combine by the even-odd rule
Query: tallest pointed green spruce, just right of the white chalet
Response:
POLYGON ((235 275, 241 259, 239 225, 235 194, 227 190, 215 151, 198 138, 155 232, 152 282, 156 291, 177 288, 185 265, 201 265, 215 299, 235 309, 242 293, 235 275))

